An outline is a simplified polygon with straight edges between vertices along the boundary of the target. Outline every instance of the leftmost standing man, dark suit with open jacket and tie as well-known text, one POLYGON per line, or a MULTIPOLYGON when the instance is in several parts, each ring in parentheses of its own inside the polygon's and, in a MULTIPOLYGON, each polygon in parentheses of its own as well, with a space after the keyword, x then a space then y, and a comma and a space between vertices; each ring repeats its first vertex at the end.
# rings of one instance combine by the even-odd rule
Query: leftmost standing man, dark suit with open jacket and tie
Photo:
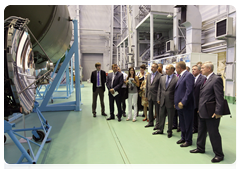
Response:
POLYGON ((93 83, 92 113, 93 117, 96 117, 97 97, 99 95, 102 108, 102 115, 107 116, 107 114, 105 114, 104 105, 106 73, 105 71, 101 70, 101 63, 96 63, 95 67, 97 70, 93 71, 91 74, 91 83, 93 83))

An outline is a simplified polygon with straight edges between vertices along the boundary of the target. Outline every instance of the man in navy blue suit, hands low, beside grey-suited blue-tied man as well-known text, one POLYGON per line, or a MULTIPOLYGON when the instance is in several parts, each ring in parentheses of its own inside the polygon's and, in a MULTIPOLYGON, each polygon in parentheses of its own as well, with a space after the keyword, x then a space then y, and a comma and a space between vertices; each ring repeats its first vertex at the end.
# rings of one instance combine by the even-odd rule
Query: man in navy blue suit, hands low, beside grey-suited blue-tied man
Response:
POLYGON ((194 77, 186 70, 186 64, 183 61, 176 64, 176 71, 179 79, 175 87, 174 105, 178 110, 181 129, 181 139, 177 141, 177 144, 182 143, 181 147, 188 147, 192 145, 194 77))

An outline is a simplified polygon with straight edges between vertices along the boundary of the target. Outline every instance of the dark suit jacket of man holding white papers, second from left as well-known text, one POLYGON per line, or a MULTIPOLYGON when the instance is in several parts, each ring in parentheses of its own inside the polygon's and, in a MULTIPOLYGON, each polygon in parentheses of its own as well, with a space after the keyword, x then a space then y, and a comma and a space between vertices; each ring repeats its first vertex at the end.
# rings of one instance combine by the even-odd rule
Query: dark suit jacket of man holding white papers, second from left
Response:
POLYGON ((114 77, 114 80, 113 80, 113 87, 111 87, 112 78, 113 78, 113 72, 108 73, 107 81, 106 81, 106 85, 107 85, 108 90, 113 88, 115 91, 120 93, 122 85, 123 85, 123 74, 120 73, 120 72, 116 73, 116 75, 114 77))

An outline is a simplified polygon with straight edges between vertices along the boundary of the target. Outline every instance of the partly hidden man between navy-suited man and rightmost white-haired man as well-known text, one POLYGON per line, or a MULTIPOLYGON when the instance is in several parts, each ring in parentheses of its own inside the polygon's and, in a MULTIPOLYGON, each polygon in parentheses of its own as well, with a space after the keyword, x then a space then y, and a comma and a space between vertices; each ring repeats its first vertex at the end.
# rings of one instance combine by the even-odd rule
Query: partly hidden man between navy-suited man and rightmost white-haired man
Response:
POLYGON ((194 82, 194 89, 193 89, 193 94, 194 94, 194 121, 193 121, 193 133, 198 132, 198 103, 199 103, 199 93, 200 93, 200 87, 205 81, 205 77, 200 73, 201 72, 201 67, 194 65, 192 67, 192 74, 195 77, 195 82, 194 82))

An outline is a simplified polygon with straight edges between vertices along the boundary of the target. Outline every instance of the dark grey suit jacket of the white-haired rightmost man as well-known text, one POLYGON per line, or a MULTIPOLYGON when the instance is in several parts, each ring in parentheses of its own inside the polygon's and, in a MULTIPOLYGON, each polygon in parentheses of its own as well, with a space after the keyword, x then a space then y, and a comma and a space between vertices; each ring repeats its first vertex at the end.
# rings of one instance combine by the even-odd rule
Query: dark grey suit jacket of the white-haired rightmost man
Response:
POLYGON ((216 101, 215 114, 223 114, 223 80, 216 74, 212 74, 209 79, 200 87, 199 94, 199 116, 210 118, 207 114, 206 102, 216 101))

